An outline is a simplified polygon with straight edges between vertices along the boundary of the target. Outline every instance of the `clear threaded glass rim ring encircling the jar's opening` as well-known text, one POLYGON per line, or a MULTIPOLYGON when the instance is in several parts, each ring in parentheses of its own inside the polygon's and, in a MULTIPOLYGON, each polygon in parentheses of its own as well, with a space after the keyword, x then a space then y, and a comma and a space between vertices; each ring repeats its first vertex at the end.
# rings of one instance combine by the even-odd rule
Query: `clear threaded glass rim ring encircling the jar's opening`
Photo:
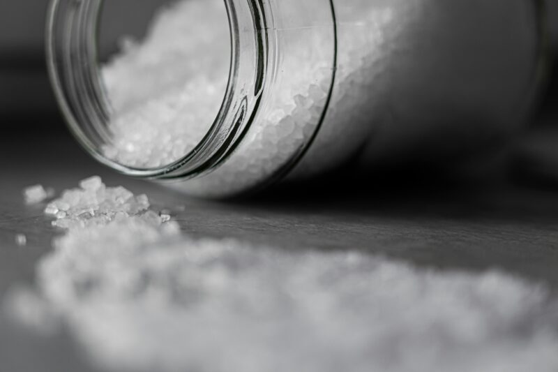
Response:
MULTIPOLYGON (((104 0, 52 0, 47 20, 50 77, 70 131, 100 163, 123 174, 148 179, 197 177, 234 150, 257 110, 268 68, 264 10, 246 0, 225 0, 230 59, 218 113, 199 141, 184 154, 160 164, 136 165, 115 158, 114 107, 103 82, 98 34, 104 0), (250 27, 246 25, 250 24, 250 27), (241 29, 242 27, 242 29, 241 29), (256 37, 255 37, 256 36, 256 37), (254 66, 257 66, 254 69, 254 66)), ((211 26, 210 26, 211 27, 211 26)), ((196 36, 193 36, 196 37, 196 36)), ((142 135, 148 135, 142 133, 142 135)), ((173 133, 167 133, 172 136, 173 133)))

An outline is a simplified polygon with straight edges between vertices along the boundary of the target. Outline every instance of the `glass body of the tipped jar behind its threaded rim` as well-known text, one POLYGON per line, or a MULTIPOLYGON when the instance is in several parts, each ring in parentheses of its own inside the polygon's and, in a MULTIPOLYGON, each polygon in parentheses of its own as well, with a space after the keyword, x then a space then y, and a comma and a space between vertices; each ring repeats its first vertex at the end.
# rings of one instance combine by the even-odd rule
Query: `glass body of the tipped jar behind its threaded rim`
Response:
MULTIPOLYGON (((356 158, 365 172, 416 156, 458 161, 518 131, 536 98, 534 0, 226 2, 239 50, 257 43, 254 58, 233 57, 246 73, 232 70, 239 99, 222 111, 236 132, 207 166, 149 176, 191 195, 238 195, 356 158)), ((71 115, 77 126, 89 116, 71 115)))

